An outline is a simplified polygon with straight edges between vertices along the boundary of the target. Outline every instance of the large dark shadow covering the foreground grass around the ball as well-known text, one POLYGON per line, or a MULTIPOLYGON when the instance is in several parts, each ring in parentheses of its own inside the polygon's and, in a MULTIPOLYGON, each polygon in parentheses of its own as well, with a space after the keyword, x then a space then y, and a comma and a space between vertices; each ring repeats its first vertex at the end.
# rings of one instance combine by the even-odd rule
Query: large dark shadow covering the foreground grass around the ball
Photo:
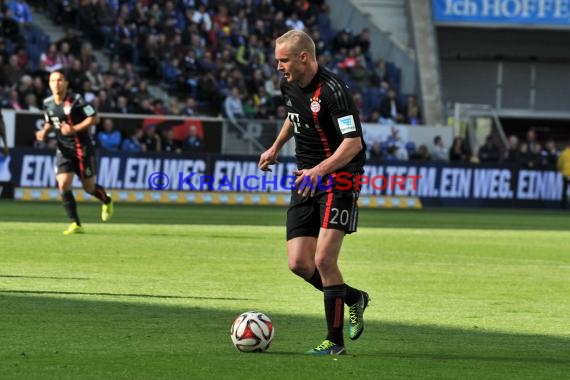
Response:
POLYGON ((570 366, 568 338, 376 321, 346 342, 349 355, 306 357, 323 337, 321 318, 267 310, 271 349, 244 354, 232 347, 229 326, 247 306, 141 302, 148 300, 0 294, 2 378, 555 379, 570 366))

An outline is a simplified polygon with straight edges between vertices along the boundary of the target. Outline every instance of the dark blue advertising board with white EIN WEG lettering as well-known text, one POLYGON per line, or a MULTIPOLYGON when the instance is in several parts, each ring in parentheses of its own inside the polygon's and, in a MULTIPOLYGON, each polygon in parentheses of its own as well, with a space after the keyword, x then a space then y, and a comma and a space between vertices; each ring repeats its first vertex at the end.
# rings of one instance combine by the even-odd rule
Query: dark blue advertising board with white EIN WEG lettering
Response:
MULTIPOLYGON (((14 149, 0 180, 15 187, 55 187, 54 156, 52 151, 14 149)), ((271 173, 260 171, 257 161, 257 156, 100 152, 97 181, 115 190, 289 192, 281 179, 293 175, 292 159, 281 160, 271 173), (238 187, 243 183, 249 187, 238 187), (255 184, 260 186, 253 189, 255 184)), ((418 197, 424 206, 554 208, 562 196, 562 177, 555 170, 370 162, 364 175, 362 195, 418 197), (404 185, 387 185, 392 178, 404 178, 404 185)))

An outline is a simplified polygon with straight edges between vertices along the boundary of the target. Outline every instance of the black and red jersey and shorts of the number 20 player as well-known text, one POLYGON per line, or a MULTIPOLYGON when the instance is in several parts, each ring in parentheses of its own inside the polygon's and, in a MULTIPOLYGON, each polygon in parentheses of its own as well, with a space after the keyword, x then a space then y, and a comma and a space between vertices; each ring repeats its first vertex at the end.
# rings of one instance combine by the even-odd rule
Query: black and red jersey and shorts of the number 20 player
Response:
MULTIPOLYGON (((343 139, 360 137, 363 149, 337 172, 361 174, 366 159, 358 110, 348 86, 336 74, 320 67, 305 88, 285 79, 281 92, 288 117, 294 129, 297 167, 310 169, 330 157, 343 139)), ((352 187, 340 191, 335 186, 335 173, 314 197, 302 197, 292 190, 287 213, 287 239, 318 236, 320 228, 333 228, 346 233, 356 231, 359 191, 352 187)))

